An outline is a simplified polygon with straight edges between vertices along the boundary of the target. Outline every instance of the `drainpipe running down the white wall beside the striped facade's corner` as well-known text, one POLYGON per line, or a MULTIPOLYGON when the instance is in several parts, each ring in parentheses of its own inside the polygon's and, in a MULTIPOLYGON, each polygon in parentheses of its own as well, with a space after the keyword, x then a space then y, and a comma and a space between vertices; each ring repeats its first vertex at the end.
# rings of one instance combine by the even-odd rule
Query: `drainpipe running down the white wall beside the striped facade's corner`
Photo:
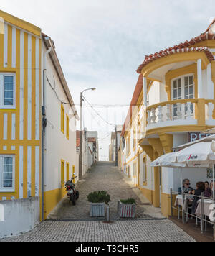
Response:
MULTIPOLYGON (((45 38, 49 40, 49 37, 45 38)), ((41 180, 41 193, 42 193, 42 221, 44 221, 44 137, 45 137, 45 128, 47 127, 47 119, 45 112, 45 85, 46 85, 46 74, 47 74, 47 55, 51 52, 52 47, 44 54, 44 69, 43 69, 43 105, 42 105, 42 180, 41 180)))

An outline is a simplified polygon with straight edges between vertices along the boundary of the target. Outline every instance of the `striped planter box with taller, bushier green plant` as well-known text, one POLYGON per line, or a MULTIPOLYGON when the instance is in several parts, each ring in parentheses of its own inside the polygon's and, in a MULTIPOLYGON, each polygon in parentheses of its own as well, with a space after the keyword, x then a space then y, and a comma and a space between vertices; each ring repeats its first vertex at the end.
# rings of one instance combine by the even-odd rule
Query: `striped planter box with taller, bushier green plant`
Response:
POLYGON ((90 204, 90 216, 91 217, 104 217, 105 216, 105 204, 109 204, 110 195, 106 191, 92 192, 87 196, 87 200, 90 204))

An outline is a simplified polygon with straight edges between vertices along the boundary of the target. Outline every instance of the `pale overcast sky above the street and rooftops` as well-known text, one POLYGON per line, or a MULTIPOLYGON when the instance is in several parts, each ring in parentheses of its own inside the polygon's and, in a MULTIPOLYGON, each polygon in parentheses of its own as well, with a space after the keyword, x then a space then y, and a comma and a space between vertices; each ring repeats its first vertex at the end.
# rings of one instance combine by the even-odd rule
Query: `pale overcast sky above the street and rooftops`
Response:
MULTIPOLYGON (((90 87, 91 104, 130 104, 145 55, 200 35, 215 17, 214 0, 1 0, 0 9, 52 37, 77 104, 90 87)), ((110 123, 127 114, 126 106, 96 110, 110 123)), ((85 117, 102 139, 113 130, 89 108, 85 117)), ((108 157, 109 142, 101 140, 101 155, 108 157)))

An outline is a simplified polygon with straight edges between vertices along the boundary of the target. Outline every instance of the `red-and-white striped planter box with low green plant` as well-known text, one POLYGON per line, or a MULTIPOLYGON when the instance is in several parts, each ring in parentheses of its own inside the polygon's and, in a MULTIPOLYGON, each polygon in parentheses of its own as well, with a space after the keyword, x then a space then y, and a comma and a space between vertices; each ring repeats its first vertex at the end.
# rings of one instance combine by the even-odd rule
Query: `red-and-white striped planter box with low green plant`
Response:
POLYGON ((136 201, 133 198, 118 201, 118 214, 120 218, 135 218, 136 201))

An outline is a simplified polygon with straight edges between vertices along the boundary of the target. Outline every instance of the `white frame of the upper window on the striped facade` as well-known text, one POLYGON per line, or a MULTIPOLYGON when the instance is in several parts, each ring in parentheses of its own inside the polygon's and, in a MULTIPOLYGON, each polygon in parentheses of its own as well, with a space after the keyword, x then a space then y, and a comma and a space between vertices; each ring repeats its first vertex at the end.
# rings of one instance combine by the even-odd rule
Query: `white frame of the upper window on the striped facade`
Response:
POLYGON ((16 73, 0 73, 0 109, 16 109, 16 73), (4 105, 4 76, 14 77, 14 101, 13 105, 4 105))

